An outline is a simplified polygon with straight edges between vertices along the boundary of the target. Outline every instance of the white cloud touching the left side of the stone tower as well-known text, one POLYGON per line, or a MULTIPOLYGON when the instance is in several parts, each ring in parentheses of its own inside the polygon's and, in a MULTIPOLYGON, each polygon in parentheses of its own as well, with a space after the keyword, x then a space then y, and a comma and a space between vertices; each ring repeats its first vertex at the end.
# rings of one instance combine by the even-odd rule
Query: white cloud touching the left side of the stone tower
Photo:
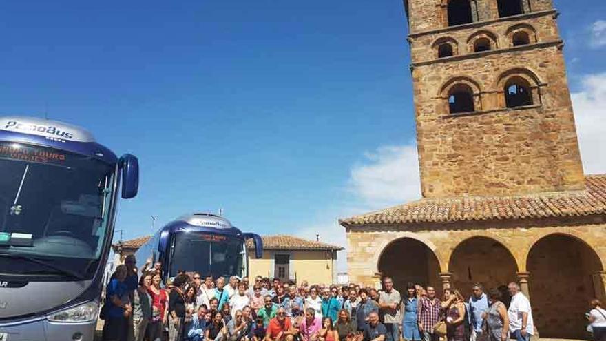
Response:
POLYGON ((351 169, 351 189, 373 208, 404 203, 421 196, 415 145, 379 147, 351 169))

